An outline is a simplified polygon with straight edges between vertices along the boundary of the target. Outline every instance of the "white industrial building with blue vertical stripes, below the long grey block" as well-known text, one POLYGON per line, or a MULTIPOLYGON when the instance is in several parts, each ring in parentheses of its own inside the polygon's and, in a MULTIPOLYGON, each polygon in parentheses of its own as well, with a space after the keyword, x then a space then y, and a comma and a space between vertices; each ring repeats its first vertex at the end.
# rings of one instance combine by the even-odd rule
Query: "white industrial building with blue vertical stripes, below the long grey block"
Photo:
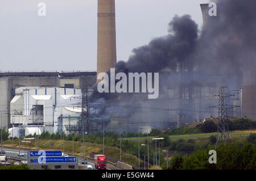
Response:
POLYGON ((65 125, 79 124, 81 89, 19 87, 10 102, 10 137, 66 132, 65 125), (22 131, 21 131, 22 130, 22 131))

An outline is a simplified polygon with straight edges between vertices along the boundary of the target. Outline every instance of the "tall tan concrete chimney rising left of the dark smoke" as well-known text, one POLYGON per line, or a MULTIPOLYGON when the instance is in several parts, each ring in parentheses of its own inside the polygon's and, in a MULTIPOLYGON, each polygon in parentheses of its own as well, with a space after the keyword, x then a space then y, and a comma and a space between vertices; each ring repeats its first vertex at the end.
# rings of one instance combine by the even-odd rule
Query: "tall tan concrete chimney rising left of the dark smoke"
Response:
POLYGON ((98 0, 97 75, 114 68, 116 62, 115 1, 98 0))

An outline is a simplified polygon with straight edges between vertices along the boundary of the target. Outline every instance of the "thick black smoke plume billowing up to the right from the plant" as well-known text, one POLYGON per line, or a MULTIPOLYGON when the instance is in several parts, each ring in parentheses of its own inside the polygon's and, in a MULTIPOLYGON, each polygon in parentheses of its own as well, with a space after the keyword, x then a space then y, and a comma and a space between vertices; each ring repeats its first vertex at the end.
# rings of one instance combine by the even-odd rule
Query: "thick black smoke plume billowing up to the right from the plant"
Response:
MULTIPOLYGON (((256 1, 226 0, 216 3, 217 16, 209 17, 201 30, 191 16, 176 15, 168 23, 166 36, 133 49, 129 60, 118 61, 115 65, 116 73, 160 73, 159 98, 150 100, 150 105, 154 104, 151 111, 156 117, 163 117, 164 114, 162 111, 158 112, 158 108, 166 108, 167 112, 176 110, 179 116, 194 115, 188 116, 188 121, 193 121, 191 119, 195 119, 195 113, 199 111, 199 116, 202 117, 197 117, 203 119, 203 116, 210 116, 206 107, 213 106, 214 103, 203 99, 203 102, 208 101, 211 105, 205 103, 204 106, 198 106, 193 101, 196 87, 201 89, 213 85, 214 89, 218 89, 220 86, 255 85, 256 1), (168 91, 173 89, 181 92, 180 96, 169 95, 168 91), (172 106, 166 104, 166 99, 170 99, 170 102, 180 99, 182 102, 184 90, 187 90, 189 97, 186 101, 191 103, 172 106), (191 95, 189 91, 192 92, 191 95), (199 110, 195 107, 199 107, 199 110)), ((94 102, 101 103, 95 114, 105 119, 129 117, 134 112, 140 112, 147 99, 144 94, 100 94, 97 92, 97 85, 93 89, 91 98, 94 102)), ((141 115, 143 114, 142 111, 141 115)), ((147 121, 142 117, 138 121, 147 121)), ((163 121, 171 119, 168 116, 162 118, 163 121)))

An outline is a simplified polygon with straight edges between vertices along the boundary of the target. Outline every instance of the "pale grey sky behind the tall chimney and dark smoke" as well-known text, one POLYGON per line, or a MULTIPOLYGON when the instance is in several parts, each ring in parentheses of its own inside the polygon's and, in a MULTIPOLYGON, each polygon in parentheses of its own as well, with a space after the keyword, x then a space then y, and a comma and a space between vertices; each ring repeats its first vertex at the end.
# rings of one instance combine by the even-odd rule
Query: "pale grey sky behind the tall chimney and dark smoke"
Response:
MULTIPOLYGON (((167 35, 177 14, 203 24, 209 0, 116 0, 117 61, 167 35)), ((96 71, 97 0, 1 0, 0 71, 96 71), (38 4, 46 3, 46 16, 38 4)))

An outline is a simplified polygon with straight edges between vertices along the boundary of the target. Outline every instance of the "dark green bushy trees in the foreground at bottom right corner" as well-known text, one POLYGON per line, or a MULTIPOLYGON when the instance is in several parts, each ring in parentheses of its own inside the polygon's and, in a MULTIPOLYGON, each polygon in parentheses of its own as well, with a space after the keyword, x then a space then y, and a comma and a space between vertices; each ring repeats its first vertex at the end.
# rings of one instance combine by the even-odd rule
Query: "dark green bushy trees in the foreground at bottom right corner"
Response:
MULTIPOLYGON (((214 149, 208 146, 192 154, 174 154, 168 169, 171 170, 243 170, 256 169, 256 134, 244 142, 222 144, 214 149), (216 150, 217 163, 210 164, 209 150, 216 150)), ((164 167, 164 165, 163 165, 164 167)), ((165 167, 166 169, 166 167, 165 167)))

